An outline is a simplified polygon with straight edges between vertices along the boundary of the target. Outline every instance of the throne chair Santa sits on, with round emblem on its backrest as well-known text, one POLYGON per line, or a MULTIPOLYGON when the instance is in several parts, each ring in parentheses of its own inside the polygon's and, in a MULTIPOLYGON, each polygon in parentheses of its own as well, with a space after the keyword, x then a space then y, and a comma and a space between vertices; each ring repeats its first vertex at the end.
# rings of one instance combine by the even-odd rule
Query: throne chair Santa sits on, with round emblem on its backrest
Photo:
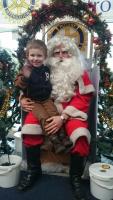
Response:
MULTIPOLYGON (((95 94, 92 99, 90 110, 88 114, 89 130, 92 136, 91 139, 91 152, 88 157, 88 165, 95 162, 96 159, 96 135, 97 135, 97 108, 98 108, 98 86, 99 86, 99 69, 96 66, 96 57, 93 60, 93 44, 92 35, 79 21, 61 21, 58 22, 48 30, 42 31, 42 39, 45 42, 56 34, 61 34, 75 38, 75 42, 80 48, 83 56, 86 57, 87 70, 91 77, 92 83, 95 87, 95 94)), ((36 36, 37 37, 37 36, 36 36)), ((24 159, 23 149, 23 159, 24 159)), ((49 149, 47 151, 41 151, 42 169, 46 173, 67 173, 69 166, 69 154, 55 154, 49 149)), ((86 167, 86 171, 88 171, 86 167)))

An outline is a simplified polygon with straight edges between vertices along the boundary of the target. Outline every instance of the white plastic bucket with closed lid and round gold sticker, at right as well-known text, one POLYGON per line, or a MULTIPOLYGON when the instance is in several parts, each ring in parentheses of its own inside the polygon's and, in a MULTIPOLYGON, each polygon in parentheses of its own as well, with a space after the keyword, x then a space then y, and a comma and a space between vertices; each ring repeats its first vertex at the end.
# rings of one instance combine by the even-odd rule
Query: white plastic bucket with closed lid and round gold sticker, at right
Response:
POLYGON ((100 200, 113 199, 113 166, 94 163, 89 167, 91 194, 100 200))

